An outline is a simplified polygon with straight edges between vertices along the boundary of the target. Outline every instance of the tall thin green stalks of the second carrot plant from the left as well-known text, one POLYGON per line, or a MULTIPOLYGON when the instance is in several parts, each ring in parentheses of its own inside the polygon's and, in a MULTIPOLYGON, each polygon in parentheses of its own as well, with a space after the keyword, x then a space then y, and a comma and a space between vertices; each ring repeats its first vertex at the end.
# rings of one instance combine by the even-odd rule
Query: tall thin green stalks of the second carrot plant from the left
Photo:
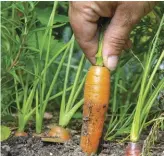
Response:
MULTIPOLYGON (((57 4, 58 4, 58 2, 55 1, 47 27, 53 26, 57 4)), ((37 134, 40 134, 42 131, 43 117, 44 117, 44 113, 45 113, 48 102, 54 98, 57 98, 58 96, 61 96, 63 93, 63 92, 59 92, 59 93, 55 94, 54 96, 51 95, 52 91, 54 89, 54 86, 57 83, 58 76, 59 76, 59 73, 63 66, 64 60, 67 56, 68 50, 70 49, 70 45, 73 42, 73 39, 71 39, 62 48, 55 51, 54 56, 52 58, 50 58, 49 53, 50 53, 50 45, 51 45, 51 35, 52 35, 52 29, 50 29, 50 30, 47 29, 44 33, 41 52, 40 52, 40 58, 42 58, 44 44, 46 43, 46 37, 48 36, 46 60, 45 60, 44 68, 42 69, 40 77, 38 79, 38 85, 37 85, 37 90, 36 90, 36 95, 35 95, 36 96, 36 133, 37 134), (50 87, 48 88, 48 90, 45 90, 49 67, 59 56, 61 56, 61 54, 63 54, 63 56, 61 57, 60 63, 55 71, 55 74, 51 81, 50 87)), ((39 64, 37 64, 37 66, 39 66, 39 64)), ((68 91, 70 89, 71 89, 71 87, 66 90, 68 91)))

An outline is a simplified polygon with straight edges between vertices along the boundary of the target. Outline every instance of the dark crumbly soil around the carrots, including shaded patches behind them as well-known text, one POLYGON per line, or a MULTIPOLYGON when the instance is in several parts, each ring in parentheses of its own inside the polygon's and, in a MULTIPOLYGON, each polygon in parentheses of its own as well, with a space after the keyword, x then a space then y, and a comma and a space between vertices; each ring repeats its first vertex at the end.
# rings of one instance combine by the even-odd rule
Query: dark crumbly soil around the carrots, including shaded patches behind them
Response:
MULTIPOLYGON (((45 131, 51 127, 51 123, 57 123, 58 119, 44 121, 45 131)), ((33 137, 35 132, 34 123, 30 123, 29 136, 15 137, 11 136, 8 140, 1 142, 1 156, 86 156, 79 146, 82 123, 79 120, 73 120, 69 125, 72 139, 62 143, 42 142, 41 138, 33 137)), ((148 134, 148 133, 147 133, 148 134)), ((147 134, 141 136, 140 145, 142 146, 147 134)), ((125 148, 128 143, 117 143, 111 141, 102 141, 97 155, 92 156, 124 156, 125 148)), ((149 155, 147 155, 149 156, 149 155)), ((164 156, 164 132, 159 132, 155 145, 151 147, 150 156, 164 156)))

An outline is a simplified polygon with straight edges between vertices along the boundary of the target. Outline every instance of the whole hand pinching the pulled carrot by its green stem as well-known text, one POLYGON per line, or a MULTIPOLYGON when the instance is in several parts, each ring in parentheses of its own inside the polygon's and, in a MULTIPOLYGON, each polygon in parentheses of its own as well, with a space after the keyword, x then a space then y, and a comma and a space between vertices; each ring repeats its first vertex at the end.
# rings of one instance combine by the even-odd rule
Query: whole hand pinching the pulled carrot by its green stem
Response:
POLYGON ((149 13, 156 2, 70 2, 69 16, 75 37, 86 57, 95 64, 98 48, 100 17, 109 17, 111 22, 104 33, 103 62, 110 70, 116 68, 121 51, 131 46, 129 39, 133 26, 149 13))

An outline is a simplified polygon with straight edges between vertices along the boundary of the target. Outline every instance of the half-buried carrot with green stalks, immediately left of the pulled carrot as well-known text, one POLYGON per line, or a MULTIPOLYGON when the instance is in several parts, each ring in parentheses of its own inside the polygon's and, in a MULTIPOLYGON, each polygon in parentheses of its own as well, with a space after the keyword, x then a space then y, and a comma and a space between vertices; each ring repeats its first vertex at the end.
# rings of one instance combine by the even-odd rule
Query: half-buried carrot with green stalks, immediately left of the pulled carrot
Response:
MULTIPOLYGON (((84 99, 80 97, 81 90, 83 88, 84 80, 85 80, 85 76, 82 72, 84 64, 85 64, 84 55, 81 56, 81 59, 80 59, 80 62, 76 71, 76 75, 73 80, 73 85, 68 87, 69 76, 71 73, 71 60, 72 60, 72 55, 73 55, 73 50, 74 50, 74 36, 72 37, 70 42, 71 42, 70 46, 65 50, 62 56, 62 59, 59 63, 59 66, 60 64, 62 65, 64 60, 66 59, 67 54, 69 53, 67 67, 65 68, 66 71, 65 71, 63 91, 62 91, 62 97, 61 97, 61 103, 60 103, 59 126, 52 127, 48 133, 48 138, 47 137, 42 138, 43 141, 65 142, 68 139, 70 139, 71 137, 70 132, 64 128, 69 124, 75 112, 81 107, 81 105, 84 102, 84 99), (70 90, 69 93, 67 93, 68 89, 70 90)), ((60 71, 60 69, 58 68, 57 70, 60 71)))

